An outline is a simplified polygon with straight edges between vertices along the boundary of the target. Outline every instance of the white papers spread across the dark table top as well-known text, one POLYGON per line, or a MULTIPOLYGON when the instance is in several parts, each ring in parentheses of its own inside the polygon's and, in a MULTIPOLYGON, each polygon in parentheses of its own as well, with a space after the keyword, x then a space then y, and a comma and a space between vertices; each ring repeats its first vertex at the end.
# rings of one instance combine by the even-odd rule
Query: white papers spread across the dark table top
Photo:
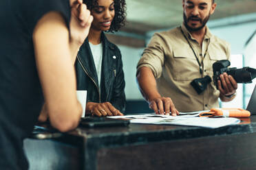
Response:
MULTIPOLYGON (((200 112, 205 112, 200 111, 200 112)), ((189 125, 199 127, 217 128, 225 125, 234 125, 240 122, 237 118, 209 118, 209 117, 198 117, 200 112, 189 112, 180 113, 179 116, 167 116, 163 114, 133 114, 126 116, 109 117, 112 119, 127 119, 130 123, 145 123, 145 124, 156 124, 156 125, 189 125)))

